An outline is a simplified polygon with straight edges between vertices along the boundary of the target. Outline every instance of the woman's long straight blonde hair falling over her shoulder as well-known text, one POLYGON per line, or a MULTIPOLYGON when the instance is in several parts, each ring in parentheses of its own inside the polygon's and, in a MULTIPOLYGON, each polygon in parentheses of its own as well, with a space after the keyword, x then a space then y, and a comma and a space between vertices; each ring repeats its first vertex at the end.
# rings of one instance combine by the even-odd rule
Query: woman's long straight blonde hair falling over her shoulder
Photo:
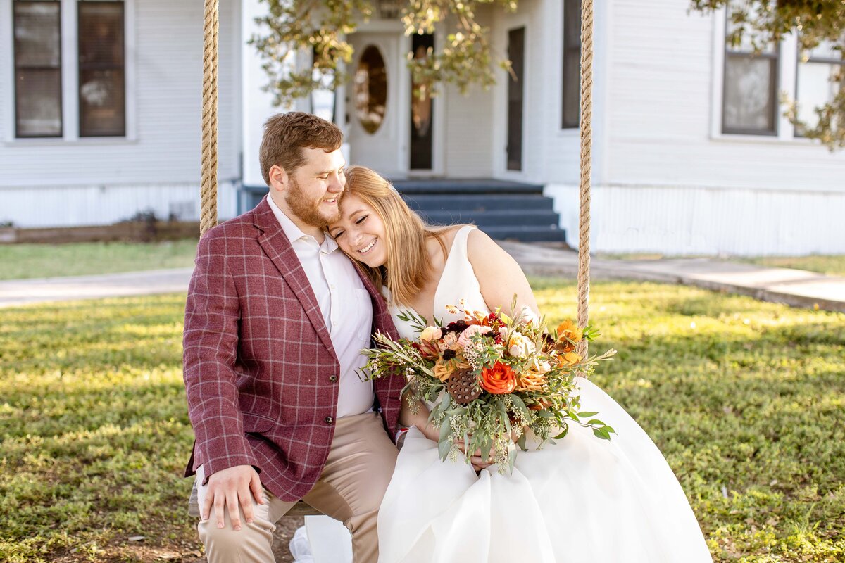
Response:
POLYGON ((383 268, 370 268, 356 257, 352 258, 377 288, 387 286, 393 304, 411 303, 413 296, 423 290, 433 274, 426 241, 436 239, 445 255, 447 251, 442 233, 448 227, 426 225, 408 207, 390 181, 366 166, 346 169, 346 189, 341 199, 346 196, 356 196, 373 208, 384 223, 384 235, 387 237, 387 262, 383 268))

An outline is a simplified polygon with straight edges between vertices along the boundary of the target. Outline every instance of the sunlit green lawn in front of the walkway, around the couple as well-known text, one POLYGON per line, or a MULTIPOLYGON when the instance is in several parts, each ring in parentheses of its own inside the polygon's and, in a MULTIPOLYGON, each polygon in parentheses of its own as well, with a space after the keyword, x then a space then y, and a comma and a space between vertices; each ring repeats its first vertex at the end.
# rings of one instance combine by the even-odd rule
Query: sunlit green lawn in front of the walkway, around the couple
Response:
MULTIPOLYGON (((535 287, 551 322, 575 315, 574 284, 535 287)), ((0 560, 195 559, 183 307, 0 309, 0 560)), ((591 311, 593 350, 619 349, 594 381, 657 441, 715 560, 845 560, 845 315, 636 283, 594 284, 591 311)))

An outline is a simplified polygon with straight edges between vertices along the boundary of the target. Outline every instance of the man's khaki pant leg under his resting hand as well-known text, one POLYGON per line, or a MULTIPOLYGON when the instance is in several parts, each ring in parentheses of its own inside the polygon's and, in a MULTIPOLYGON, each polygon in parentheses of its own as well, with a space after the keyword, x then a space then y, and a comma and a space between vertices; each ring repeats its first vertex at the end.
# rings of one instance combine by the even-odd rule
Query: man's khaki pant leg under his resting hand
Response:
MULTIPOLYGON (((204 471, 197 469, 197 495, 199 506, 203 506, 208 485, 203 485, 204 471)), ((241 529, 235 531, 225 509, 226 526, 217 528, 217 518, 212 506, 208 520, 200 520, 197 525, 199 539, 205 546, 205 557, 209 563, 275 563, 273 555, 273 531, 275 522, 291 509, 296 502, 280 501, 269 490, 263 489, 264 504, 253 501, 253 522, 247 523, 241 513, 241 529)))

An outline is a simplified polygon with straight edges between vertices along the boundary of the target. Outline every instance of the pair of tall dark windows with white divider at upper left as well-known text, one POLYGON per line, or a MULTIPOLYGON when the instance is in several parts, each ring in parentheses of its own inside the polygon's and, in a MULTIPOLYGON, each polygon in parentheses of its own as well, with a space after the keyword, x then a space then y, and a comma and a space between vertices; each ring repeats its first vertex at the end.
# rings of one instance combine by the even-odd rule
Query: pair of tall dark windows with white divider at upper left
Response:
POLYGON ((123 0, 14 0, 12 6, 14 136, 125 137, 123 0))

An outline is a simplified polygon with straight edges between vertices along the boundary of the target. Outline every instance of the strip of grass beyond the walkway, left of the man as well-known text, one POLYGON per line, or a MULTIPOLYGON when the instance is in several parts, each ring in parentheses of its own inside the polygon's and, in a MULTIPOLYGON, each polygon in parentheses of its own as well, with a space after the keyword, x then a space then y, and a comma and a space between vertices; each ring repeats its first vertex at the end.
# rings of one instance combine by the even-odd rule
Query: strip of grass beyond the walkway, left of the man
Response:
POLYGON ((0 245, 0 279, 193 268, 197 241, 0 245))

